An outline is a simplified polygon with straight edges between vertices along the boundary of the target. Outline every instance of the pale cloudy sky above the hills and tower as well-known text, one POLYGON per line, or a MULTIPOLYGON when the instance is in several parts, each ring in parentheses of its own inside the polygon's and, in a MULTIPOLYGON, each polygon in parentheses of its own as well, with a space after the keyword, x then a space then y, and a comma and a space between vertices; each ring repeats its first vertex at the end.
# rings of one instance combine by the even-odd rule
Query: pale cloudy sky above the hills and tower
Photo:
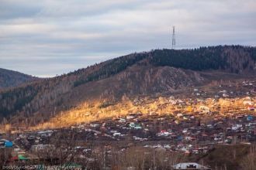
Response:
POLYGON ((55 76, 128 53, 256 46, 255 0, 0 0, 0 67, 55 76))

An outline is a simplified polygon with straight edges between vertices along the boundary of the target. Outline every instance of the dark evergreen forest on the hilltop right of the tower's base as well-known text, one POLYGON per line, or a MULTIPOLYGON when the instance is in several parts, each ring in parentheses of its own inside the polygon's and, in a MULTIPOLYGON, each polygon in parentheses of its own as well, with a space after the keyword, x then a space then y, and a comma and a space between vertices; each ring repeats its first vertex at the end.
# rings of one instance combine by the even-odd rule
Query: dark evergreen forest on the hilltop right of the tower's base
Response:
POLYGON ((256 48, 242 46, 210 46, 199 49, 154 50, 150 63, 189 70, 226 70, 242 73, 255 70, 256 48))

